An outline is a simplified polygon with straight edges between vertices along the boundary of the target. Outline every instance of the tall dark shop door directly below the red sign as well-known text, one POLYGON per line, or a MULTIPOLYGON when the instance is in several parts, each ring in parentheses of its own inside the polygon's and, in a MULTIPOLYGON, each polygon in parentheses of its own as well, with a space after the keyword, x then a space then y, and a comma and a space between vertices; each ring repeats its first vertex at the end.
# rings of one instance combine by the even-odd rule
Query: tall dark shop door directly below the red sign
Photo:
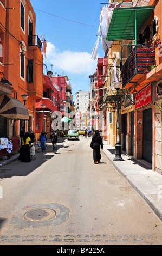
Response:
POLYGON ((152 163, 152 109, 143 111, 143 159, 152 163))

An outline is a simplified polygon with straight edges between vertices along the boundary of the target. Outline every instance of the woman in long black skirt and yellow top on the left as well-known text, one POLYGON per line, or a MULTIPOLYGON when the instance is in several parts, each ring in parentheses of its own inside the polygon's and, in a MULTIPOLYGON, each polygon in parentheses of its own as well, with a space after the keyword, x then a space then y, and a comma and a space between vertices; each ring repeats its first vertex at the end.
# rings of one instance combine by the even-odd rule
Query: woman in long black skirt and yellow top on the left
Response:
POLYGON ((30 142, 31 140, 29 138, 28 132, 26 132, 25 135, 21 138, 20 155, 18 157, 18 160, 21 162, 31 162, 30 142))

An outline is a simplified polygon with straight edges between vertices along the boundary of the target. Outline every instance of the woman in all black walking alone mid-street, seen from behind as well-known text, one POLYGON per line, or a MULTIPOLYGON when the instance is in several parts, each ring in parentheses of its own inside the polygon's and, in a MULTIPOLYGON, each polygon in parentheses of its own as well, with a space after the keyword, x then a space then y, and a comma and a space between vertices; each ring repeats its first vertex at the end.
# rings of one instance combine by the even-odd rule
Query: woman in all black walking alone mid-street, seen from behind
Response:
POLYGON ((97 130, 92 137, 92 141, 90 143, 90 148, 93 149, 93 160, 94 163, 100 163, 101 160, 101 153, 100 148, 103 149, 103 142, 100 136, 100 132, 97 130))

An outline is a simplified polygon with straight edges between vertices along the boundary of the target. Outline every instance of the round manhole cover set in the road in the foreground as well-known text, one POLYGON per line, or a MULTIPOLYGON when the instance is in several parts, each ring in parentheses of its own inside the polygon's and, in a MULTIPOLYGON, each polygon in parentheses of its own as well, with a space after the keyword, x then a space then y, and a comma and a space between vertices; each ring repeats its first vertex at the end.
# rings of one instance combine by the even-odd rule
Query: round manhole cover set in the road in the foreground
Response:
POLYGON ((27 221, 49 221, 55 216, 56 211, 49 208, 32 209, 24 214, 27 221))

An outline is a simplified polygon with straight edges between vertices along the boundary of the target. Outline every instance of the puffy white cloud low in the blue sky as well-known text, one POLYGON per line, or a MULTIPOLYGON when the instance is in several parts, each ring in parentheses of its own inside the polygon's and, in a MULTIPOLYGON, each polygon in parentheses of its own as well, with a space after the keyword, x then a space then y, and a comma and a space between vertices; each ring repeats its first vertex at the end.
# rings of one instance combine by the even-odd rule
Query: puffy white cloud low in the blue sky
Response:
POLYGON ((71 74, 93 74, 96 70, 96 60, 90 58, 88 52, 72 52, 70 50, 59 51, 48 42, 47 61, 53 64, 55 68, 62 69, 71 74))

